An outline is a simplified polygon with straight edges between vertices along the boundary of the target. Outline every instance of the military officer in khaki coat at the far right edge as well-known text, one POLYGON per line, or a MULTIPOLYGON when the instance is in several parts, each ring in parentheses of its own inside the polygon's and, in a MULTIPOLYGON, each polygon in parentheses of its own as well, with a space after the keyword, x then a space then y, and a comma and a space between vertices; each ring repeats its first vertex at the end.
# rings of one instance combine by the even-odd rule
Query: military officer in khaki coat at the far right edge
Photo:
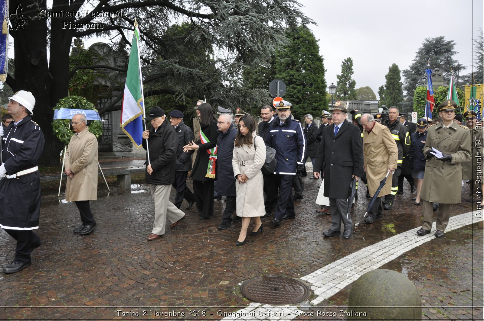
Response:
POLYGON ((471 160, 464 164, 464 170, 462 172, 462 179, 470 180, 470 195, 469 202, 476 202, 477 204, 483 204, 483 189, 482 184, 483 171, 482 166, 477 167, 479 159, 482 160, 484 153, 484 130, 482 126, 476 126, 476 112, 468 110, 464 113, 464 118, 466 119, 467 128, 470 131, 470 149, 471 160), (481 190, 479 190, 479 188, 481 190))

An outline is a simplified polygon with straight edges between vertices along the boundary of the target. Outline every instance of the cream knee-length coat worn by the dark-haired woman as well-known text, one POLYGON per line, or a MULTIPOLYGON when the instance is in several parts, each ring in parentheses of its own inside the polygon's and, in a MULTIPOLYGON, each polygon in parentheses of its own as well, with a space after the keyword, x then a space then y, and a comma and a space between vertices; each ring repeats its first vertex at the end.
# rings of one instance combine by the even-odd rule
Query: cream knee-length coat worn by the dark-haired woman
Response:
POLYGON ((247 145, 235 146, 232 153, 234 177, 245 173, 248 178, 246 183, 235 181, 237 216, 240 217, 256 217, 266 214, 264 206, 264 178, 260 171, 266 160, 266 145, 262 137, 256 136, 256 132, 252 133, 252 137, 256 147, 254 145, 250 147, 247 145), (243 161, 253 163, 243 166, 243 161))

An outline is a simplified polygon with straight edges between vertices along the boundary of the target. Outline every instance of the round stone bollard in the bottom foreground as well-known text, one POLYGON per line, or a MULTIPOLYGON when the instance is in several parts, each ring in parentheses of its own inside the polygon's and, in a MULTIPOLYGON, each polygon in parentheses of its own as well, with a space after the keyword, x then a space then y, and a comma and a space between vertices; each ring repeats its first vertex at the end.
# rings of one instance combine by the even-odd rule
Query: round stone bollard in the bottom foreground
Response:
POLYGON ((422 300, 415 285, 403 274, 373 270, 353 283, 346 319, 420 320, 422 300))

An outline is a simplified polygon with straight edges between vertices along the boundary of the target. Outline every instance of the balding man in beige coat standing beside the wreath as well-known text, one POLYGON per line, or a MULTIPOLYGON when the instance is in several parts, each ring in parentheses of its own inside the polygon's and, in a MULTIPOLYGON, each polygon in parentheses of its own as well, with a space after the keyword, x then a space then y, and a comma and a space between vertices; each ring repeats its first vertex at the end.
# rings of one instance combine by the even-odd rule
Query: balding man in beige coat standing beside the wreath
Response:
POLYGON ((65 154, 65 200, 75 202, 79 209, 82 225, 73 232, 81 235, 91 233, 96 227, 89 201, 97 199, 97 139, 86 122, 82 114, 72 117, 72 129, 76 134, 71 137, 65 154))

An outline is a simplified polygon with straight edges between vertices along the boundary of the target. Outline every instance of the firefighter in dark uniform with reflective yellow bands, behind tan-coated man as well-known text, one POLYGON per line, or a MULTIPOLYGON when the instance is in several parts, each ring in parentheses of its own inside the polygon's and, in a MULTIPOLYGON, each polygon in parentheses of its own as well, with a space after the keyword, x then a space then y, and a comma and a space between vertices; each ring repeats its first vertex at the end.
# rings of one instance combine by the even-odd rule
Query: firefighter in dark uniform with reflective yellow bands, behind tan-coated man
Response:
POLYGON ((392 176, 392 191, 389 195, 385 196, 385 201, 382 202, 385 204, 383 209, 391 210, 393 206, 393 201, 395 200, 395 195, 398 192, 398 176, 401 174, 403 158, 407 156, 408 152, 410 151, 410 135, 408 135, 407 127, 403 126, 398 121, 398 108, 392 106, 388 110, 388 122, 387 127, 392 134, 393 139, 395 140, 396 146, 398 147, 398 160, 397 160, 397 169, 392 176))

